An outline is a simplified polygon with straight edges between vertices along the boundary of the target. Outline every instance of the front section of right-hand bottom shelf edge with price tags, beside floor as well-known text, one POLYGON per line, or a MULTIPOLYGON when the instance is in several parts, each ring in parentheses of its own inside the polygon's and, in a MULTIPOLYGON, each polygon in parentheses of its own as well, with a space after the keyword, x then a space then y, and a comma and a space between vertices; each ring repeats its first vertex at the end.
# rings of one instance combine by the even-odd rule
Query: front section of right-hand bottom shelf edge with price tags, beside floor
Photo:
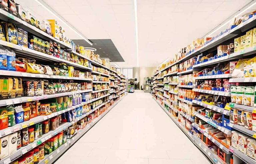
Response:
POLYGON ((194 144, 203 152, 212 163, 221 164, 225 163, 220 157, 218 157, 208 146, 196 135, 193 135, 194 144))

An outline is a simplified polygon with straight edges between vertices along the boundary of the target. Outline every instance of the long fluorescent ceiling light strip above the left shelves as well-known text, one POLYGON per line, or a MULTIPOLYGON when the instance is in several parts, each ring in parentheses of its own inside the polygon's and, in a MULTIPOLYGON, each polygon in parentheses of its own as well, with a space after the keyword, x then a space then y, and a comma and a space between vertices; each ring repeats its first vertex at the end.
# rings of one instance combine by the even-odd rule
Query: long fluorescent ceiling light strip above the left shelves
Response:
POLYGON ((91 46, 93 45, 92 42, 90 42, 87 38, 85 38, 80 32, 74 29, 74 27, 71 27, 71 25, 60 18, 58 16, 59 14, 55 14, 52 9, 49 9, 50 7, 43 1, 43 0, 35 0, 37 3, 39 3, 41 6, 43 6, 47 11, 49 11, 51 14, 53 14, 55 17, 57 17, 61 22, 63 22, 65 25, 67 25, 71 30, 73 30, 78 36, 80 36, 82 39, 84 39, 87 43, 89 43, 91 46))

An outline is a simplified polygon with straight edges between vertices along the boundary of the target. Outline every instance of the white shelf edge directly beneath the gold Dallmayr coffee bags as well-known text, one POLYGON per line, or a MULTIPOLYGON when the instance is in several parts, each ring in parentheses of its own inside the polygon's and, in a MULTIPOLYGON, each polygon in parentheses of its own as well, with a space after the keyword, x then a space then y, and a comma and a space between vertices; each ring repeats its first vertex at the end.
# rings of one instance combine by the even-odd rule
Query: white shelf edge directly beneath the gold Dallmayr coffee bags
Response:
POLYGON ((87 89, 87 90, 63 92, 63 93, 56 93, 56 94, 42 95, 42 96, 22 96, 22 97, 13 98, 13 99, 0 100, 0 106, 37 101, 37 100, 43 100, 48 98, 54 98, 54 97, 68 96, 76 93, 85 93, 85 92, 91 92, 91 91, 92 91, 91 89, 87 89))

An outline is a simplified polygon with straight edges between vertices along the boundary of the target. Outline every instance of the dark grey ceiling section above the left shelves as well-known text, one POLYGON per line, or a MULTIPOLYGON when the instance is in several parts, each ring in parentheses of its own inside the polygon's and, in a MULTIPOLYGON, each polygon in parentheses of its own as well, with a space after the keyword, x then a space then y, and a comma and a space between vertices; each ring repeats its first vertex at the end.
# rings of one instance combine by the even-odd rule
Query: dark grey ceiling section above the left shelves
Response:
POLYGON ((91 46, 83 39, 73 40, 76 44, 84 47, 96 48, 96 54, 100 54, 101 58, 109 58, 111 62, 124 62, 121 54, 116 49, 116 46, 111 39, 90 39, 93 43, 91 46))

